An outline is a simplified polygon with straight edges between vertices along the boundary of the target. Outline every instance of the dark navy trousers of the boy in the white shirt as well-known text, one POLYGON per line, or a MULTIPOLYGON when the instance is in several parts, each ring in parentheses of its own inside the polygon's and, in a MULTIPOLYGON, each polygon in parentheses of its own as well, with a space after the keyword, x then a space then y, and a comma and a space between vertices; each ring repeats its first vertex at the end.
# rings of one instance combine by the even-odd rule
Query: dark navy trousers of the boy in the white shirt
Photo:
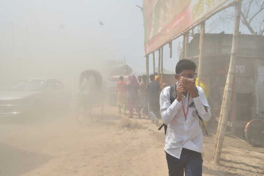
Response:
POLYGON ((182 149, 180 159, 166 153, 169 176, 201 176, 202 157, 201 153, 182 149))

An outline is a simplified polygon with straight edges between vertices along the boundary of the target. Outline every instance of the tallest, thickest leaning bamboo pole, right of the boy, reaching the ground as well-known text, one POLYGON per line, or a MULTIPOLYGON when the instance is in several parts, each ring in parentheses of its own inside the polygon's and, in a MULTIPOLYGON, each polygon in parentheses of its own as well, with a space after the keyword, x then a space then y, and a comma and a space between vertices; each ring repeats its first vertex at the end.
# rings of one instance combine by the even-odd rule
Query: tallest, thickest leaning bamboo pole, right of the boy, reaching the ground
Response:
POLYGON ((220 156, 222 152, 223 140, 224 140, 224 133, 225 127, 227 122, 227 116, 229 113, 230 101, 231 101, 231 94, 232 94, 232 84, 234 78, 234 70, 235 70, 235 63, 236 63, 236 54, 238 51, 238 42, 239 42, 239 25, 240 25, 240 16, 241 16, 241 0, 237 1, 235 5, 235 21, 234 21, 234 34, 233 34, 233 41, 232 41, 232 50, 231 50, 231 57, 230 57, 230 64, 229 70, 226 78, 225 83, 225 101, 222 102, 223 107, 223 117, 220 126, 220 133, 219 133, 219 140, 217 144, 216 154, 214 158, 214 162, 219 164, 220 156))

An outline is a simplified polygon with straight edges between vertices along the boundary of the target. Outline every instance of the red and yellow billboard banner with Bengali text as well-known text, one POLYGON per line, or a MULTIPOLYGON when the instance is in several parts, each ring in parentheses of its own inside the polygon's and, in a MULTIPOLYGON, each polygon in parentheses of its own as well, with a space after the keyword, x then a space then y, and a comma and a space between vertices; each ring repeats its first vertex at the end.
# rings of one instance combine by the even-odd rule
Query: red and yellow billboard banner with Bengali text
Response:
POLYGON ((228 0, 143 0, 145 54, 206 17, 228 0))

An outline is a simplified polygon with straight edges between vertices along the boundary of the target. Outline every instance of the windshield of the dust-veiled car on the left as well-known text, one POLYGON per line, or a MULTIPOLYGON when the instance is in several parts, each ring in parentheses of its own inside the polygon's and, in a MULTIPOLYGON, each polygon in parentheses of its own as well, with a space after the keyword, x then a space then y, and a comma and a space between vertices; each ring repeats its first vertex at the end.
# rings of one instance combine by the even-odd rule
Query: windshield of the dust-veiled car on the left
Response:
POLYGON ((9 90, 42 90, 44 87, 44 80, 19 80, 13 83, 9 90))

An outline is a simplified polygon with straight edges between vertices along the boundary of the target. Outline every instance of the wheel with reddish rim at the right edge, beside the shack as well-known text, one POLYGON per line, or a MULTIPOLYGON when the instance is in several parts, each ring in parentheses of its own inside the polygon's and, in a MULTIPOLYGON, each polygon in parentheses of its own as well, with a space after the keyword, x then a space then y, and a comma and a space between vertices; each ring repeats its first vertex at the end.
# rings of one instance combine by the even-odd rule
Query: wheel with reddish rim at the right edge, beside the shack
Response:
POLYGON ((264 111, 262 118, 250 120, 245 126, 245 136, 248 143, 253 146, 262 146, 264 144, 264 111))

